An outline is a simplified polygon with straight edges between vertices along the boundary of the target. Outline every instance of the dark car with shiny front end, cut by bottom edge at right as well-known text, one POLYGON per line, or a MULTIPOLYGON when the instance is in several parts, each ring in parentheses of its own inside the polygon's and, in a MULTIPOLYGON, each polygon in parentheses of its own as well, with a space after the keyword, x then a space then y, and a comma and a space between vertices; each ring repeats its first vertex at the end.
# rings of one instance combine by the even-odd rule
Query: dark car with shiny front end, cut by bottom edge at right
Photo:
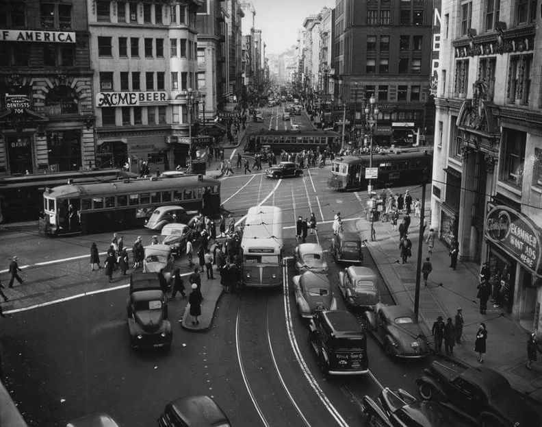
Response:
POLYGON ((365 395, 362 410, 370 426, 474 427, 443 404, 416 400, 402 389, 392 391, 385 387, 376 402, 365 395))

